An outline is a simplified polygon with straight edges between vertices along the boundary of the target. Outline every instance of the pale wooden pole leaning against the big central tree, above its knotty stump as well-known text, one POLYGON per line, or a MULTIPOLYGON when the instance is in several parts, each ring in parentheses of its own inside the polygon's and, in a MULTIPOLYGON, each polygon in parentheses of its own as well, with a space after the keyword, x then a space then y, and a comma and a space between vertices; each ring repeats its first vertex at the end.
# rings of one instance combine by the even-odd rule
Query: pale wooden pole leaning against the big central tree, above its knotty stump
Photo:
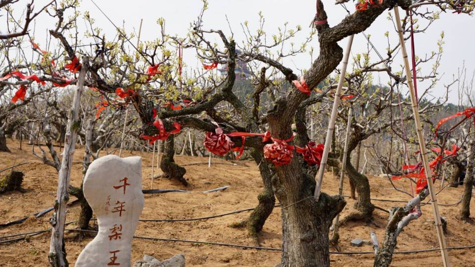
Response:
POLYGON ((336 87, 332 114, 330 116, 330 121, 328 122, 327 137, 325 138, 325 147, 323 149, 320 167, 318 168, 318 174, 317 174, 317 179, 316 179, 317 185, 315 186, 315 192, 313 194, 316 201, 318 201, 320 197, 320 192, 321 192, 322 182, 323 182, 323 175, 325 173, 325 169, 327 168, 328 153, 330 151, 330 147, 332 146, 333 130, 335 128, 336 114, 338 113, 338 104, 340 103, 340 97, 341 97, 341 87, 343 87, 343 82, 345 81, 346 67, 348 66, 348 57, 350 55, 351 44, 353 43, 353 37, 354 35, 351 35, 348 38, 345 55, 343 57, 343 61, 341 64, 340 78, 338 80, 338 86, 336 87))

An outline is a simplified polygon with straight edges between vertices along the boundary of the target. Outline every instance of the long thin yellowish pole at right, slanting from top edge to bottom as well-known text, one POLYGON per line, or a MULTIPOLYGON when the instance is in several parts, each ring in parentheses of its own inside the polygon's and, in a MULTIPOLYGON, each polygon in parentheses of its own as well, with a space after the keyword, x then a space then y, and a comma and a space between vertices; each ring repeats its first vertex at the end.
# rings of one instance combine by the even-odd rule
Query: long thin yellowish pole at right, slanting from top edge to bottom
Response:
POLYGON ((437 198, 436 198, 434 188, 433 188, 434 185, 432 183, 432 172, 430 170, 430 167, 427 161, 426 143, 425 143, 424 135, 422 132, 421 119, 419 117, 419 106, 418 106, 418 102, 414 93, 414 86, 412 84, 412 75, 411 75, 411 70, 409 69, 409 60, 407 58, 406 45, 404 43, 404 36, 402 33, 401 18, 399 17, 398 6, 394 7, 394 15, 396 19, 397 31, 399 33, 399 42, 401 44, 402 57, 404 60, 404 70, 406 71, 407 85, 409 86, 409 93, 411 95, 412 112, 414 113, 414 122, 416 123, 417 138, 419 140, 419 148, 421 150, 420 154, 422 156, 422 162, 424 164, 424 169, 426 171, 427 187, 429 189, 430 199, 432 202, 432 209, 433 209, 434 220, 435 220, 435 229, 437 229, 437 238, 439 241, 440 253, 442 255, 442 263, 444 264, 444 267, 450 267, 449 255, 447 252, 447 245, 445 243, 444 232, 442 231, 442 222, 440 220, 439 208, 437 206, 437 198))

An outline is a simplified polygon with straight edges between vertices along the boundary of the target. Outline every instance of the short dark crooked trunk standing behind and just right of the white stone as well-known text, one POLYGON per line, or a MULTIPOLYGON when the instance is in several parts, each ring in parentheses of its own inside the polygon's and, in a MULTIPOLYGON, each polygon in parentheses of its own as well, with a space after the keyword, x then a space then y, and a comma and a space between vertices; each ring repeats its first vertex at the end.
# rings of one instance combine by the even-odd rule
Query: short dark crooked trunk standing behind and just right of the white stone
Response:
POLYGON ((173 156, 175 155, 174 135, 170 135, 165 140, 162 158, 160 159, 160 169, 163 171, 163 176, 168 179, 174 179, 188 186, 187 180, 183 177, 187 170, 175 163, 173 156))

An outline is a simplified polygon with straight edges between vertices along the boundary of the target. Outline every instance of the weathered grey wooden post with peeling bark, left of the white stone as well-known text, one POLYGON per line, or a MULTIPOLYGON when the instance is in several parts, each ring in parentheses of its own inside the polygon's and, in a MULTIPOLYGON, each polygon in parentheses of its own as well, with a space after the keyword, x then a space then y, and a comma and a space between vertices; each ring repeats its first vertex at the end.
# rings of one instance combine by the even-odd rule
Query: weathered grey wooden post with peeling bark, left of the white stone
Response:
POLYGON ((66 250, 64 248, 64 224, 66 222, 66 209, 69 200, 69 183, 71 179, 71 166, 77 140, 77 133, 81 129, 79 122, 79 112, 81 106, 81 95, 83 93, 84 80, 88 72, 89 59, 82 58, 82 67, 79 72, 78 83, 74 91, 73 103, 68 113, 68 124, 66 126, 66 136, 64 141, 64 152, 61 161, 61 169, 58 175, 58 190, 54 202, 54 214, 50 220, 51 242, 49 244, 48 260, 51 267, 66 267, 66 250))

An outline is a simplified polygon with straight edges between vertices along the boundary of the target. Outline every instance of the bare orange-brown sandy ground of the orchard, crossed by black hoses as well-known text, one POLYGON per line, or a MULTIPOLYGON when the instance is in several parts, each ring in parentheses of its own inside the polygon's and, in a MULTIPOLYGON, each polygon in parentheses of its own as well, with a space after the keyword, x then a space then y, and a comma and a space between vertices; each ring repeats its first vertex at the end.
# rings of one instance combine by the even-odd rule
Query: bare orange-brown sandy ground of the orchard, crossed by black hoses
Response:
MULTIPOLYGON (((8 146, 13 153, 0 152, 0 169, 21 162, 30 162, 16 169, 25 173, 23 187, 25 193, 18 191, 7 192, 0 195, 0 223, 6 223, 32 215, 40 210, 52 206, 56 195, 57 173, 54 168, 42 164, 31 153, 31 147, 23 144, 23 150, 18 150, 18 143, 11 140, 8 146)), ((75 153, 73 165, 72 184, 78 186, 82 180, 81 159, 83 149, 79 148, 75 153)), ((125 152, 125 156, 142 156, 143 189, 150 188, 151 176, 151 153, 125 152)), ((176 156, 178 164, 195 162, 207 162, 207 158, 176 156)), ((226 161, 213 159, 213 162, 226 163, 226 161)), ((229 162, 227 162, 229 163, 229 162)), ((190 186, 187 190, 191 193, 165 193, 145 195, 145 206, 142 219, 178 219, 194 218, 208 215, 226 213, 238 209, 252 208, 257 203, 257 195, 262 190, 262 182, 256 164, 250 161, 243 162, 247 166, 234 166, 215 164, 208 169, 206 164, 186 166, 190 186), (222 192, 202 193, 200 191, 214 189, 221 186, 231 187, 222 192)), ((155 174, 157 172, 155 171, 155 174)), ((2 173, 4 175, 5 173, 2 173)), ((386 178, 370 177, 371 196, 373 198, 409 199, 404 193, 395 191, 386 178)), ((335 194, 338 181, 327 173, 323 191, 335 194)), ((398 188, 408 189, 407 181, 396 181, 398 188)), ((345 180, 344 194, 349 194, 347 181, 345 180)), ((436 182, 439 189, 440 182, 436 182)), ((166 179, 158 179, 154 182, 155 189, 185 189, 174 185, 166 179)), ((439 203, 456 203, 462 195, 463 188, 447 188, 438 196, 439 203)), ((347 199, 347 205, 342 216, 351 211, 354 201, 347 199)), ((381 208, 389 209, 393 205, 402 203, 373 201, 381 208)), ((472 203, 472 214, 475 214, 475 203, 472 203)), ((446 235, 448 246, 465 246, 475 244, 475 226, 464 223, 458 219, 460 205, 440 207, 440 212, 448 220, 448 234, 446 235)), ((73 205, 68 210, 67 221, 77 219, 80 207, 73 205)), ((281 210, 275 208, 264 229, 260 233, 261 245, 265 247, 279 248, 281 246, 281 210)), ((141 222, 136 235, 200 240, 209 242, 223 242, 232 244, 254 245, 253 240, 247 236, 244 229, 232 229, 230 224, 245 219, 249 212, 243 212, 230 216, 220 217, 206 221, 193 222, 141 222)), ((30 217, 21 225, 0 228, 0 236, 14 233, 28 232, 47 229, 51 213, 40 217, 30 217)), ((371 230, 377 232, 380 243, 383 240, 384 227, 388 214, 376 209, 374 222, 365 224, 362 222, 348 223, 340 229, 341 251, 372 251, 371 245, 352 247, 351 239, 359 237, 369 240, 371 230)), ((70 225, 69 228, 74 228, 70 225)), ((67 259, 71 266, 74 265, 80 251, 91 241, 91 237, 81 242, 75 240, 76 232, 66 233, 67 259)), ((17 241, 0 245, 1 267, 27 267, 48 266, 47 253, 49 250, 49 232, 29 238, 25 241, 17 241)), ((435 228, 433 226, 432 209, 430 205, 423 207, 423 216, 412 222, 398 237, 396 250, 416 250, 437 247, 435 228)), ((334 249, 332 248, 332 251, 334 249)), ((193 244, 182 242, 166 242, 134 239, 132 245, 132 260, 142 258, 143 254, 149 254, 162 260, 175 254, 185 254, 187 266, 274 266, 280 262, 280 253, 275 251, 233 248, 210 244, 193 244)), ((475 266, 475 249, 450 250, 452 266, 475 266)), ((364 255, 332 255, 332 266, 373 266, 373 254, 364 255)), ((442 266, 439 251, 418 254, 396 254, 392 266, 442 266)))

